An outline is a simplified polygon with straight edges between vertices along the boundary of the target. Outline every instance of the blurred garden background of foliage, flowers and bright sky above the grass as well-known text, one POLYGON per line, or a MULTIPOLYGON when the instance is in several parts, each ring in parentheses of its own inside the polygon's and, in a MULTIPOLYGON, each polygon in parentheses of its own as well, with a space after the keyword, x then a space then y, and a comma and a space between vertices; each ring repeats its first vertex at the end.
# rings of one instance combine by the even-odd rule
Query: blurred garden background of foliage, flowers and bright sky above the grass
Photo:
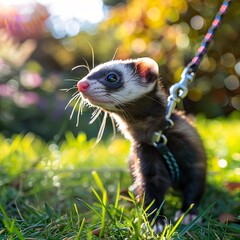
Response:
MULTIPOLYGON (((73 67, 149 56, 168 89, 180 80, 222 0, 0 0, 0 131, 61 140, 96 137, 91 112, 69 120, 70 88, 87 74, 73 67), (117 51, 116 51, 117 50, 117 51)), ((183 102, 188 113, 227 117, 240 110, 240 1, 214 36, 183 102)), ((107 130, 105 136, 111 130, 107 130)))

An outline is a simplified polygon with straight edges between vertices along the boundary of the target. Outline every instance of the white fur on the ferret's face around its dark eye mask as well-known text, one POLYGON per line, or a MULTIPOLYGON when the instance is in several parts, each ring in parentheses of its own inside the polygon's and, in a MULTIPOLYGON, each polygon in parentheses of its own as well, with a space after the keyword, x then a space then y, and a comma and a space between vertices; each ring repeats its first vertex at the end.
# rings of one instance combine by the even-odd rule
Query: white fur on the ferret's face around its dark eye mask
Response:
MULTIPOLYGON (((115 106, 117 105, 127 104, 149 93, 154 88, 156 82, 153 81, 149 83, 145 81, 144 83, 139 73, 137 73, 137 69, 136 72, 134 72, 134 69, 130 69, 129 64, 133 62, 136 63, 137 61, 138 60, 114 60, 95 67, 84 78, 84 80, 89 83, 88 89, 82 92, 84 99, 93 105, 111 111, 116 110, 115 106), (106 72, 116 70, 121 73, 124 82, 123 86, 118 89, 108 89, 99 79, 91 79, 93 74, 97 74, 104 69, 106 72)), ((148 61, 149 64, 153 64, 154 62, 148 58, 143 58, 142 61, 148 61)), ((158 72, 158 69, 156 69, 157 64, 155 63, 155 65, 154 70, 158 72)))

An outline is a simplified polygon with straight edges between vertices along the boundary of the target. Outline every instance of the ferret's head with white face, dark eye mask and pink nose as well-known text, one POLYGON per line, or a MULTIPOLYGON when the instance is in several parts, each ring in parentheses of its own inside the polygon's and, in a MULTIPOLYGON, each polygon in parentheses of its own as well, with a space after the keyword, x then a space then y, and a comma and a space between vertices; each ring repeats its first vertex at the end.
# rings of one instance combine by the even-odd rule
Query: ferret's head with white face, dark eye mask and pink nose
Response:
POLYGON ((117 111, 152 91, 158 65, 151 58, 114 60, 101 64, 80 80, 78 91, 91 105, 117 111))

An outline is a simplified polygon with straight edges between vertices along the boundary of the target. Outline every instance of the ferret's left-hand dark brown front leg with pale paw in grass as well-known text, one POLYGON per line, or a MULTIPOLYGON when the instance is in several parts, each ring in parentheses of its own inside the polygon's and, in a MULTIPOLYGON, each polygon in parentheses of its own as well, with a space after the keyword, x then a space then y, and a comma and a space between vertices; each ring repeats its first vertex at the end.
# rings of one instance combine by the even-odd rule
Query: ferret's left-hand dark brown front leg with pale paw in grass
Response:
POLYGON ((152 146, 138 148, 137 156, 140 159, 140 173, 142 175, 144 190, 144 205, 147 208, 148 220, 155 219, 153 229, 156 233, 164 229, 167 221, 160 209, 164 196, 171 185, 170 176, 164 163, 159 157, 159 152, 152 146), (150 206, 150 207, 149 207, 150 206), (158 216, 156 216, 157 212, 158 216))

